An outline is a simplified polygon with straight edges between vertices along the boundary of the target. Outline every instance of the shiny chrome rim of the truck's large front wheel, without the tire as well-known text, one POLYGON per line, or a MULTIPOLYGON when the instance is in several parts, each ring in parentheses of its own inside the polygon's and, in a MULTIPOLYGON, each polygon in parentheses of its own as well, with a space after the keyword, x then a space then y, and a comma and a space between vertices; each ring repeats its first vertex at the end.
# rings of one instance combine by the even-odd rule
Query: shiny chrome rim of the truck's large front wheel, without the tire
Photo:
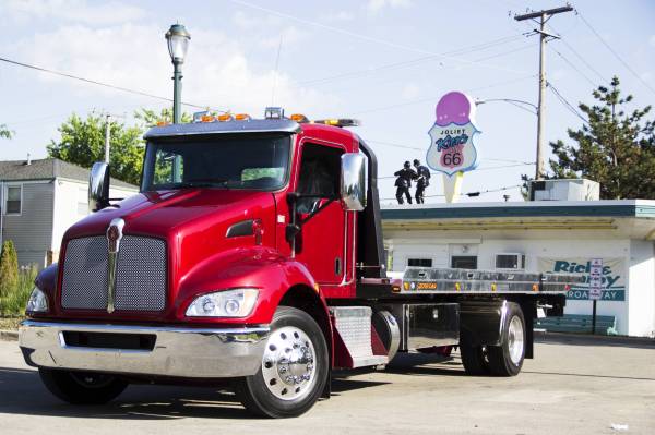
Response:
POLYGON ((315 383, 314 346, 295 326, 271 334, 262 359, 262 375, 269 391, 282 400, 307 396, 315 383))

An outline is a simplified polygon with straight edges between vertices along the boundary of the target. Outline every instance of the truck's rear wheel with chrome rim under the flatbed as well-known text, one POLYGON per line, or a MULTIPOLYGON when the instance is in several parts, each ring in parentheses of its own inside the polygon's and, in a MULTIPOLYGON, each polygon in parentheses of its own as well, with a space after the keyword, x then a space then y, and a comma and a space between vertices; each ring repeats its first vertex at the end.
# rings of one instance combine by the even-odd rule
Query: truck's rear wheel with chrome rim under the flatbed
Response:
POLYGON ((516 376, 523 366, 526 337, 525 317, 519 304, 508 302, 508 313, 504 322, 504 325, 502 325, 502 345, 488 347, 489 370, 496 376, 516 376), (516 345, 519 333, 521 334, 521 346, 516 345), (514 359, 512 359, 513 353, 514 359))

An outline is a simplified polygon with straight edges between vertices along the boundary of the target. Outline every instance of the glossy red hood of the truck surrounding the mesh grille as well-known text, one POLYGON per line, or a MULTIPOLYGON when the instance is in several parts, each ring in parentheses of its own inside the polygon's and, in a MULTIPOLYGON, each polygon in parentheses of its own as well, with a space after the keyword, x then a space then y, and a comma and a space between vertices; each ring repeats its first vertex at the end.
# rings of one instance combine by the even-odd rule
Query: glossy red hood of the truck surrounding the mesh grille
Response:
MULTIPOLYGON (((163 321, 174 318, 180 285, 193 267, 229 250, 255 245, 255 237, 227 237, 227 229, 243 220, 260 219, 263 246, 275 246, 275 198, 270 192, 186 189, 140 193, 117 207, 94 213, 71 227, 62 241, 59 283, 66 268, 66 246, 71 239, 104 235, 115 218, 124 220, 123 234, 163 239, 167 246, 166 313, 114 313, 111 318, 163 321), (63 267, 61 267, 63 266, 63 267)), ((144 253, 146 255, 146 253, 144 253)), ((139 267, 139 265, 134 265, 139 267)), ((58 295, 61 288, 58 286, 58 295)), ((76 318, 105 318, 106 312, 67 311, 76 318)))

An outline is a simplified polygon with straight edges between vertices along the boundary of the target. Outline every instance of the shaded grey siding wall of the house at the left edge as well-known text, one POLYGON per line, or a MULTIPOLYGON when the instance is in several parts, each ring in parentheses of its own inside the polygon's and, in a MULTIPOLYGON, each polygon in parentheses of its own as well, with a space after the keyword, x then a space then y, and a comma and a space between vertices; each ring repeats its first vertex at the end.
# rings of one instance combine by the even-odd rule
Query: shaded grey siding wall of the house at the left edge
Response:
POLYGON ((19 265, 36 264, 38 268, 43 268, 52 240, 55 188, 49 181, 25 182, 22 185, 21 214, 3 216, 2 239, 14 242, 19 265))

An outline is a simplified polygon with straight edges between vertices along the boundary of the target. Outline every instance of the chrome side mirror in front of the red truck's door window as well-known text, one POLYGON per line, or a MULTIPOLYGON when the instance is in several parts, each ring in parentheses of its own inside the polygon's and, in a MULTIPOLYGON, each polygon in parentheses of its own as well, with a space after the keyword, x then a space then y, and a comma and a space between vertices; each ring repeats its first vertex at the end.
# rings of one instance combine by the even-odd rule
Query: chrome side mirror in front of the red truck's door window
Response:
POLYGON ((342 156, 341 198, 348 212, 366 207, 368 191, 368 159, 364 154, 346 153, 342 156))

